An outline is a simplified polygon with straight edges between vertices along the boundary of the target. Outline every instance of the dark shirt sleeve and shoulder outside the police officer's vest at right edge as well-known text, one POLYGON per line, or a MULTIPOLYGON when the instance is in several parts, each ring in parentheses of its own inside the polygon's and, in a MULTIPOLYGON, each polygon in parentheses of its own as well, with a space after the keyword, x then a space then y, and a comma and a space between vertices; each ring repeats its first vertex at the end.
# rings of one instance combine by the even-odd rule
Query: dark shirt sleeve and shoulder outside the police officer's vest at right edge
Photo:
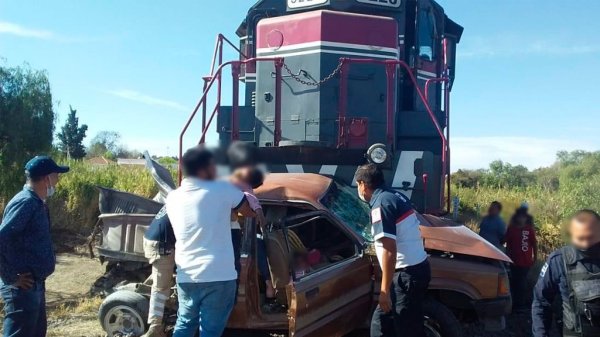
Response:
MULTIPOLYGON (((591 273, 600 272, 600 264, 589 260, 581 261, 591 273)), ((553 306, 553 302, 555 299, 560 300, 561 303, 568 302, 569 296, 570 290, 563 262, 563 253, 561 250, 558 250, 550 255, 548 261, 542 267, 538 282, 533 291, 532 320, 533 335, 535 337, 550 336, 550 328, 554 321, 553 315, 562 316, 561 312, 553 311, 553 308, 557 307, 553 306)), ((562 326, 558 328, 562 330, 562 326)))

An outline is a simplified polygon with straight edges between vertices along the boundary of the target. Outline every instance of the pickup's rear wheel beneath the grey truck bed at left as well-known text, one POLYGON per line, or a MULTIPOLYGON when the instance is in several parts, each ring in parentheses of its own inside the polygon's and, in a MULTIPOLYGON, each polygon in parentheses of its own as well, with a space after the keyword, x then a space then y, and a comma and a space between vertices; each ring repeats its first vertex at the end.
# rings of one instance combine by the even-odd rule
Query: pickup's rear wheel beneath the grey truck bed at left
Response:
POLYGON ((131 290, 119 290, 104 299, 98 319, 108 337, 141 336, 146 332, 149 300, 131 290))

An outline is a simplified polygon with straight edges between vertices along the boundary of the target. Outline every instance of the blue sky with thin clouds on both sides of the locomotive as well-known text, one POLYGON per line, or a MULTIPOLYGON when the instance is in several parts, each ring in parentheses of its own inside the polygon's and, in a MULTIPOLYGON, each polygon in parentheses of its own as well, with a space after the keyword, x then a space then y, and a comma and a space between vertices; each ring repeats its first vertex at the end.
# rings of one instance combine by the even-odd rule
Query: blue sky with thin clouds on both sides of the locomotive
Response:
MULTIPOLYGON (((439 2, 465 27, 454 170, 494 159, 535 168, 558 150, 600 149, 600 1, 439 2)), ((215 36, 235 39, 253 3, 0 0, 0 62, 48 70, 58 125, 72 105, 88 140, 114 130, 130 148, 174 155, 215 36)))

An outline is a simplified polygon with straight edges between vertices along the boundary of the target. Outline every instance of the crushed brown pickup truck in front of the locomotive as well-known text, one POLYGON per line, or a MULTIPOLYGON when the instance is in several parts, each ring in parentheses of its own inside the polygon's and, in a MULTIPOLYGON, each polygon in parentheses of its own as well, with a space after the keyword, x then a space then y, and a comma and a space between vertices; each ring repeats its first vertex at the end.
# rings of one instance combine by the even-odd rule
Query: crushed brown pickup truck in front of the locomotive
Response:
MULTIPOLYGON (((148 162, 161 190, 174 188, 168 172, 148 162)), ((354 189, 318 174, 272 173, 256 194, 268 223, 262 234, 271 279, 286 310, 263 309, 265 290, 256 263, 258 229, 246 221, 238 299, 228 328, 344 336, 368 326, 380 268, 372 253, 368 210, 354 189), (291 262, 298 249, 316 250, 320 256, 302 276, 291 262)), ((161 203, 111 190, 102 191, 100 202, 104 214, 97 250, 109 262, 108 273, 122 277, 100 308, 100 322, 110 337, 139 336, 146 329, 151 287, 142 236, 161 203)), ((424 303, 428 335, 462 336, 457 314, 464 312, 476 313, 489 330, 502 329, 511 307, 505 269, 510 259, 462 225, 429 215, 420 219, 432 266, 424 303)), ((176 309, 174 293, 165 315, 171 323, 176 309)))

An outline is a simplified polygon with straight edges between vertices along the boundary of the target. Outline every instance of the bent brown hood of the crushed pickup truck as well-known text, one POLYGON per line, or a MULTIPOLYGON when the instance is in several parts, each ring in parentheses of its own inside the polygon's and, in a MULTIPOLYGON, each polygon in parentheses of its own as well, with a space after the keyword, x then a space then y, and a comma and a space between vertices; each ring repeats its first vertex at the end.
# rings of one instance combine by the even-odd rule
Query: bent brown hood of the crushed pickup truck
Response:
POLYGON ((421 215, 419 218, 427 249, 512 263, 506 254, 463 225, 431 215, 421 215))

